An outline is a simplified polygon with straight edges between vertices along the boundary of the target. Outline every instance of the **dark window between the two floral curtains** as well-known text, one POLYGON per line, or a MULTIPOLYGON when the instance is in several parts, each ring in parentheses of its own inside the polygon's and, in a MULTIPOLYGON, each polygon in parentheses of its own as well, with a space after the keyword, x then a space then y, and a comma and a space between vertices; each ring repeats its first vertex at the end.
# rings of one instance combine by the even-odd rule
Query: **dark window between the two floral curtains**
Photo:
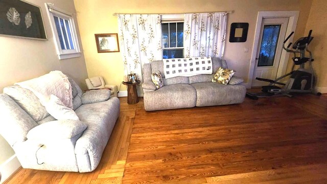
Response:
POLYGON ((180 15, 162 15, 162 58, 184 57, 184 17, 180 15))

